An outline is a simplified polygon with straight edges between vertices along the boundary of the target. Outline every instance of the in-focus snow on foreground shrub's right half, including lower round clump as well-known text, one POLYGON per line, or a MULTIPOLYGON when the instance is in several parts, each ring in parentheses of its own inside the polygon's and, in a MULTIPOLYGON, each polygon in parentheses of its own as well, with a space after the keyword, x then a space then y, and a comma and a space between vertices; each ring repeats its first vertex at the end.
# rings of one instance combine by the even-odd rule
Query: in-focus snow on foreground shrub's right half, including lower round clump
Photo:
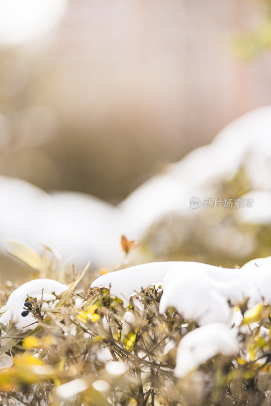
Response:
MULTIPOLYGON (((167 308, 174 307, 185 319, 199 325, 178 345, 175 375, 181 378, 219 353, 234 355, 239 348, 236 327, 242 331, 258 327, 256 323, 241 326, 243 316, 240 310, 233 311, 233 306, 249 298, 248 306, 253 311, 257 303, 271 302, 270 262, 271 257, 257 258, 240 269, 198 262, 153 262, 103 275, 91 286, 110 285, 111 294, 125 298, 123 302, 127 306, 135 291, 146 288, 151 281, 161 281, 163 293, 159 312, 163 314, 167 308)), ((129 312, 125 313, 123 325, 127 322, 134 324, 129 312)), ((268 334, 268 329, 260 328, 261 336, 268 334)), ((164 353, 174 347, 172 340, 164 353)))

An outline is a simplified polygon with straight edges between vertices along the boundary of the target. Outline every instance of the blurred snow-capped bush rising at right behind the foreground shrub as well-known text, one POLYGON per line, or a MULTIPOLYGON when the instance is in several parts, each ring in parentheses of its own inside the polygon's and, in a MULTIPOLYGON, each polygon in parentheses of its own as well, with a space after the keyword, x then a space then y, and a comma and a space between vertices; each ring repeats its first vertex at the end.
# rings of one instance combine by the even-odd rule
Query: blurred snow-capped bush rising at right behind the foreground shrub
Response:
POLYGON ((154 258, 227 266, 270 255, 271 107, 234 120, 132 192, 127 232, 154 258), (191 198, 198 202, 191 207, 191 198), (130 213, 133 213, 130 219, 130 213))

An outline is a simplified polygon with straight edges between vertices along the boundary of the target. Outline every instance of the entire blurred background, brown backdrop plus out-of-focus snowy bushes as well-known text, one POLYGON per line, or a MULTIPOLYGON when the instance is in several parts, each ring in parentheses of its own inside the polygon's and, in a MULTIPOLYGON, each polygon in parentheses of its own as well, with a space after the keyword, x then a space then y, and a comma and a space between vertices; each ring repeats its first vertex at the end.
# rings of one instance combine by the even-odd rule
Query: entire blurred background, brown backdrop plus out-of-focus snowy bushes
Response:
MULTIPOLYGON (((76 254, 80 266, 91 259, 112 269, 123 259, 117 249, 127 233, 144 244, 135 263, 233 266, 270 255, 271 214, 261 226, 257 220, 266 205, 255 208, 253 222, 241 223, 236 211, 189 208, 193 193, 236 198, 256 189, 268 194, 258 202, 271 199, 268 109, 253 121, 253 145, 249 137, 246 145, 248 118, 235 144, 235 130, 229 131, 214 152, 195 152, 187 164, 164 170, 236 117, 271 105, 270 47, 267 0, 0 0, 1 175, 119 205, 73 194, 49 198, 3 178, 0 251, 8 239, 44 243, 64 260, 76 254), (228 157, 231 172, 211 181, 208 171, 219 173, 228 157), (184 185, 187 172, 194 177, 184 185), (159 173, 161 183, 154 180, 121 204, 159 173)), ((8 277, 6 255, 0 268, 8 277)))

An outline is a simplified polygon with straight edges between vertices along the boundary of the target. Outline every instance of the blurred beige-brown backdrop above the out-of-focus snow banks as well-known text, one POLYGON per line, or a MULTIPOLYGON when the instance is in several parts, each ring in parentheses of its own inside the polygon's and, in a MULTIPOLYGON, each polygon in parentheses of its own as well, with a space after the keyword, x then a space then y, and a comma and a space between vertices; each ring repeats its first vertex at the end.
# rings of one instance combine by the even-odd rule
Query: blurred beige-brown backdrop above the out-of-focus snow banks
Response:
POLYGON ((270 3, 0 1, 0 172, 112 204, 271 103, 270 3))

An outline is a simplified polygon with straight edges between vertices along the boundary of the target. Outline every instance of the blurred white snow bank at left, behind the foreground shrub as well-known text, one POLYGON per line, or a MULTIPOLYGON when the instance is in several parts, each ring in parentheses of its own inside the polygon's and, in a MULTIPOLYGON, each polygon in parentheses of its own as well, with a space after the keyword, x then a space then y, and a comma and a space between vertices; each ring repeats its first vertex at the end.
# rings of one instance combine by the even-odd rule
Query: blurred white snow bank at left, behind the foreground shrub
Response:
POLYGON ((0 176, 0 250, 12 241, 39 252, 42 244, 83 266, 121 263, 119 210, 83 193, 51 195, 20 179, 0 176), (20 198, 18 198, 18 196, 20 198), (108 261, 103 261, 107 252, 108 261))

